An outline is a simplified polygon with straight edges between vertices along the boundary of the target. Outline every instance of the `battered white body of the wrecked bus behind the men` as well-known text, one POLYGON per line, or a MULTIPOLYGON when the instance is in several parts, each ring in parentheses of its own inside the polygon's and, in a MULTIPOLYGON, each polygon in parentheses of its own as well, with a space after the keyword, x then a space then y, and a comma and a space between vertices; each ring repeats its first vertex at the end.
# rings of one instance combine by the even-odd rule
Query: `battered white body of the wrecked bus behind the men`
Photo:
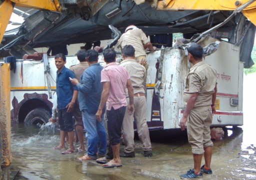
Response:
MULTIPOLYGON (((197 41, 201 46, 219 41, 209 35, 197 41)), ((242 125, 243 62, 239 46, 220 40, 215 52, 204 57, 217 70, 216 114, 212 126, 242 125)), ((146 79, 146 120, 149 129, 179 128, 184 110, 182 100, 185 76, 190 64, 186 44, 162 47, 146 55, 149 65, 146 79)), ((103 62, 102 54, 99 62, 103 62)), ((66 56, 66 67, 77 64, 75 55, 66 56)), ((54 57, 42 60, 17 59, 11 70, 11 121, 26 124, 46 123, 51 115, 55 89, 54 57)), ((134 124, 135 125, 135 124, 134 124)))

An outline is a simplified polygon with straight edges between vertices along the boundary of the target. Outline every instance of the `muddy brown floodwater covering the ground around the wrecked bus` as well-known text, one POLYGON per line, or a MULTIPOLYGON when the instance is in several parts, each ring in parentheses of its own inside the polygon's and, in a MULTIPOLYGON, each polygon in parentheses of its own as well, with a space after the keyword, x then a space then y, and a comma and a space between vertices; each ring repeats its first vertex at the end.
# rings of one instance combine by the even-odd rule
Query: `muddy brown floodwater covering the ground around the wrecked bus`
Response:
MULTIPOLYGON (((225 129, 224 137, 213 141, 213 174, 203 179, 256 179, 255 81, 255 74, 244 77, 244 125, 225 129)), ((39 128, 21 124, 12 124, 11 130, 10 170, 19 169, 15 179, 179 179, 193 168, 186 133, 180 130, 151 131, 152 157, 144 157, 135 140, 135 157, 121 157, 123 166, 117 168, 102 168, 93 160, 81 162, 77 160, 81 152, 61 154, 52 148, 59 142, 58 132, 38 133, 39 128)))

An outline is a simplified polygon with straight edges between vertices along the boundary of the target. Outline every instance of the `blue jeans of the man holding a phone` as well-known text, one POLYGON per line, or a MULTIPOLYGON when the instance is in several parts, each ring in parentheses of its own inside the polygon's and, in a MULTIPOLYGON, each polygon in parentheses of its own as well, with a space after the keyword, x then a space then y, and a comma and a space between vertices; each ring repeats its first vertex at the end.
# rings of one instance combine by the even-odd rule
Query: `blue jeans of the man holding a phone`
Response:
POLYGON ((101 121, 98 122, 96 115, 87 110, 82 110, 82 121, 86 130, 85 137, 87 139, 89 157, 95 158, 98 155, 106 153, 106 131, 104 126, 104 113, 101 115, 101 121))

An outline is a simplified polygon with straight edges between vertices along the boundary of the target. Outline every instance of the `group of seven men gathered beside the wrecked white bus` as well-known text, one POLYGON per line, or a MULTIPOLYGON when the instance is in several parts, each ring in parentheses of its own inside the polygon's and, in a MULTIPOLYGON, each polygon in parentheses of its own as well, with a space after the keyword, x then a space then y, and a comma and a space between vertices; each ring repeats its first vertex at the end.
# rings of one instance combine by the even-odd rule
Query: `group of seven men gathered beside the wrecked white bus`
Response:
MULTIPOLYGON (((79 64, 66 68, 63 54, 55 55, 57 67, 56 94, 60 143, 55 149, 65 148, 65 136, 69 147, 61 152, 75 151, 74 128, 84 151, 82 125, 86 131, 88 148, 79 160, 96 160, 102 167, 122 166, 121 157, 135 157, 134 129, 143 145, 144 156, 152 156, 149 131, 145 119, 145 79, 147 63, 143 44, 153 51, 155 48, 141 29, 131 25, 119 39, 122 61, 117 64, 116 52, 112 48, 103 51, 106 65, 98 63, 96 50, 79 50, 79 64), (105 128, 104 116, 107 119, 105 128), (107 129, 107 133, 106 133, 107 129), (108 152, 107 134, 109 139, 108 152), (120 138, 125 147, 121 153, 120 138)), ((212 173, 210 168, 212 142, 209 125, 215 113, 216 70, 202 60, 202 48, 197 44, 188 47, 188 60, 193 64, 186 76, 184 102, 186 108, 180 120, 181 130, 187 128, 188 141, 192 147, 194 168, 181 174, 180 178, 197 178, 202 173, 212 173), (205 164, 200 168, 202 154, 205 164)))

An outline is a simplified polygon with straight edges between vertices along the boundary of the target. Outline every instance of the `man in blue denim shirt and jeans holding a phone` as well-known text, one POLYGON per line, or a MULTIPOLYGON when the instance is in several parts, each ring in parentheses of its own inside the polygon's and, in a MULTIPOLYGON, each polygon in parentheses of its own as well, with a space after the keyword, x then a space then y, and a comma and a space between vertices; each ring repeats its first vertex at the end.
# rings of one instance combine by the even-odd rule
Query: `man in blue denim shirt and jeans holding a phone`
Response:
POLYGON ((79 90, 79 107, 82 111, 82 121, 88 143, 87 153, 78 158, 79 160, 93 160, 97 158, 97 155, 103 157, 106 152, 106 131, 103 120, 105 110, 102 110, 101 120, 98 121, 95 115, 103 88, 100 83, 103 67, 97 61, 98 52, 88 50, 87 62, 89 67, 83 71, 80 82, 75 78, 70 80, 79 90))

